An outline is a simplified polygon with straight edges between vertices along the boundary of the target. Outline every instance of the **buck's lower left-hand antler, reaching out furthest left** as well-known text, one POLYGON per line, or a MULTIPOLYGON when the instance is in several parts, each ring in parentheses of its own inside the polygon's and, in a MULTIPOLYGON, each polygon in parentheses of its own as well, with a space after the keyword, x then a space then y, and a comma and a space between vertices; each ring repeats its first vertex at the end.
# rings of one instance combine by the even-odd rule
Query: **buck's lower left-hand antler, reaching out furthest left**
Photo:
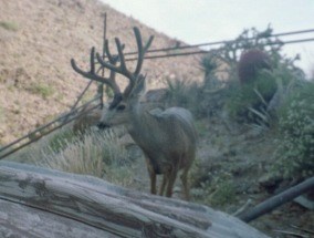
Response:
POLYGON ((121 90, 114 80, 114 76, 115 76, 114 74, 111 73, 111 77, 107 79, 107 77, 97 75, 97 73, 95 72, 95 48, 92 48, 91 50, 90 64, 91 64, 91 70, 83 71, 76 65, 75 60, 71 59, 71 65, 76 73, 90 80, 95 80, 97 82, 105 83, 109 87, 112 87, 112 90, 114 91, 114 94, 121 94, 121 90))

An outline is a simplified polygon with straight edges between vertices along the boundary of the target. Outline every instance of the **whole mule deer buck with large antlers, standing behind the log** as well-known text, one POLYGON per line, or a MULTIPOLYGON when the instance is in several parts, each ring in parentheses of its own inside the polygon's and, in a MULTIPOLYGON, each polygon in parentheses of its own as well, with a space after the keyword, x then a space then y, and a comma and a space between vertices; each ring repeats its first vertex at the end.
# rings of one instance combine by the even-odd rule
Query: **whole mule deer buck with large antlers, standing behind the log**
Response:
POLYGON ((100 54, 95 55, 94 48, 91 51, 91 70, 85 72, 78 69, 72 59, 73 69, 85 77, 103 82, 114 91, 114 100, 108 110, 102 115, 100 128, 124 124, 133 139, 144 152, 148 173, 150 176, 150 193, 156 194, 156 175, 163 174, 163 182, 159 195, 171 197, 174 184, 178 172, 181 169, 181 182, 185 198, 189 199, 188 172, 196 154, 196 130, 192 115, 181 107, 161 110, 145 110, 139 103, 140 95, 145 90, 145 76, 140 74, 144 55, 150 46, 153 37, 143 45, 142 35, 137 28, 134 28, 138 48, 137 64, 134 72, 126 66, 126 60, 119 39, 115 39, 118 55, 113 56, 105 43, 105 51, 108 62, 105 62, 100 54), (103 77, 95 73, 95 56, 97 62, 105 69, 111 70, 111 77, 103 77), (117 59, 119 65, 117 66, 117 59), (115 81, 115 73, 128 79, 129 83, 121 93, 115 81))

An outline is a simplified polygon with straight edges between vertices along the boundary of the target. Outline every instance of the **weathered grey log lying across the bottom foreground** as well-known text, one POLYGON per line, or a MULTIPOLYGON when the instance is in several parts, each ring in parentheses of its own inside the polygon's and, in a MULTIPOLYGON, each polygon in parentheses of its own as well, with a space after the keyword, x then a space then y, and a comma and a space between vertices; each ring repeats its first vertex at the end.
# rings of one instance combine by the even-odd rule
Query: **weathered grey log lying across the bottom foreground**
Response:
POLYGON ((12 162, 0 163, 0 227, 3 237, 266 237, 206 206, 12 162))

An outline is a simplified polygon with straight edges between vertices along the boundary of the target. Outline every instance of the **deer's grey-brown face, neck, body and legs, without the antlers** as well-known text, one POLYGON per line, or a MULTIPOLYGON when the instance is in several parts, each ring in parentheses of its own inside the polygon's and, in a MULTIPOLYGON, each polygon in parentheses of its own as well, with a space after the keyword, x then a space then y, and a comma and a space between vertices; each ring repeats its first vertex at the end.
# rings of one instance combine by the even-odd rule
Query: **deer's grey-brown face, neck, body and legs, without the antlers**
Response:
POLYGON ((191 113, 181 107, 170 107, 164 112, 146 111, 138 101, 130 103, 125 112, 119 110, 119 104, 115 108, 106 110, 100 126, 121 123, 127 126, 128 133, 146 157, 151 194, 156 194, 156 175, 163 174, 159 195, 164 195, 166 188, 166 196, 170 197, 177 174, 182 169, 184 194, 188 199, 187 176, 195 159, 197 141, 191 113))

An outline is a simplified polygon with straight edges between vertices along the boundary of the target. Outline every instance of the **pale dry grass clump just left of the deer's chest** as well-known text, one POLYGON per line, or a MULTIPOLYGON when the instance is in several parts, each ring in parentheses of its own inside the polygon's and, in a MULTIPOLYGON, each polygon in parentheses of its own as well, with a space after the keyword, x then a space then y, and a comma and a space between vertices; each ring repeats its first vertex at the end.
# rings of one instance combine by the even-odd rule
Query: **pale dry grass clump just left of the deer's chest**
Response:
POLYGON ((127 158, 114 131, 90 132, 83 138, 64 139, 62 151, 56 152, 54 146, 48 146, 42 155, 43 159, 36 163, 41 166, 97 177, 103 177, 111 166, 118 166, 127 158))

